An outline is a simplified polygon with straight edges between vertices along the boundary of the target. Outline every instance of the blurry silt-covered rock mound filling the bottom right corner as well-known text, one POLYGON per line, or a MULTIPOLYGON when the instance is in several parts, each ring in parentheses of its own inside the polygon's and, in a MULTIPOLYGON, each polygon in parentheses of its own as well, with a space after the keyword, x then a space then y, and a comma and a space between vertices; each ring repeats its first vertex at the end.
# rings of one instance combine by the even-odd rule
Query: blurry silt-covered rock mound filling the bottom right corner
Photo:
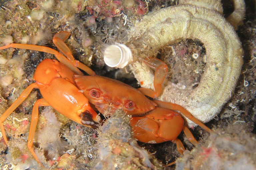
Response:
POLYGON ((256 135, 243 124, 213 130, 191 152, 176 161, 176 170, 255 170, 256 135))

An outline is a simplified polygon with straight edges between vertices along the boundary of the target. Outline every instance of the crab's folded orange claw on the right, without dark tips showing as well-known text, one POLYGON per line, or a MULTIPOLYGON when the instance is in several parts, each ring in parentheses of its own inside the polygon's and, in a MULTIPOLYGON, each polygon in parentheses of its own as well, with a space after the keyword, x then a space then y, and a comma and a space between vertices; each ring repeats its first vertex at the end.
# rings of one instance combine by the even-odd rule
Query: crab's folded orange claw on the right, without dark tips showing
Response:
POLYGON ((146 143, 173 141, 180 134, 183 125, 184 120, 178 113, 158 107, 145 117, 131 118, 134 137, 146 143))

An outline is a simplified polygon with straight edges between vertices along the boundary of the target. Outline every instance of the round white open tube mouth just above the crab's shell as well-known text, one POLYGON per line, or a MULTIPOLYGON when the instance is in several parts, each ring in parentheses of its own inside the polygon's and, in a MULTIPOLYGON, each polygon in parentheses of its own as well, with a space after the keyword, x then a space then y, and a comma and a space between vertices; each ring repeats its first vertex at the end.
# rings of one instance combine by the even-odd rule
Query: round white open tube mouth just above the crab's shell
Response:
POLYGON ((132 51, 124 44, 109 45, 104 51, 104 61, 109 67, 124 68, 132 58, 132 51))

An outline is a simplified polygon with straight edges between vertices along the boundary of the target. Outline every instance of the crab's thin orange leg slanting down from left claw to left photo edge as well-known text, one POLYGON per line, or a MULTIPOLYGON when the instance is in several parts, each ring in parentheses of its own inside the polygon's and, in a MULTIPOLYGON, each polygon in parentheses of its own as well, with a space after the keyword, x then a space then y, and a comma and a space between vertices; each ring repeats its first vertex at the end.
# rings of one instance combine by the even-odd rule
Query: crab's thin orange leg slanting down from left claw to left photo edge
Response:
POLYGON ((4 141, 6 144, 8 144, 7 137, 4 130, 3 122, 7 119, 7 117, 28 97, 30 92, 34 89, 38 88, 36 83, 30 84, 18 97, 17 100, 3 113, 3 115, 0 117, 0 128, 2 131, 2 135, 4 138, 4 141))

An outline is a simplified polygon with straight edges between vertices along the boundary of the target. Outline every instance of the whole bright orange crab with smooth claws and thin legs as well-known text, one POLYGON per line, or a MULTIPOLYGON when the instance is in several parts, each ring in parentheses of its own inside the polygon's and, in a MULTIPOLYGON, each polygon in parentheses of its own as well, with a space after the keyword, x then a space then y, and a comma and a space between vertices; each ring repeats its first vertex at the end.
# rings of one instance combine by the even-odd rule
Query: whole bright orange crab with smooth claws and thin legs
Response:
POLYGON ((180 111, 200 127, 211 131, 183 107, 167 102, 151 101, 145 97, 145 95, 152 98, 159 96, 167 73, 167 66, 164 62, 156 58, 145 60, 145 63, 155 70, 155 92, 146 88, 137 90, 117 80, 97 76, 89 67, 75 60, 70 49, 64 43, 69 35, 70 33, 62 31, 53 37, 54 44, 66 57, 62 53, 45 46, 13 43, 0 47, 0 49, 13 47, 43 51, 54 54, 60 61, 54 59, 43 60, 35 71, 35 83, 29 85, 0 117, 0 128, 6 143, 8 141, 3 122, 28 97, 34 88, 40 90, 43 98, 38 99, 33 106, 28 148, 41 165, 42 163, 33 149, 38 107, 40 106, 52 106, 67 118, 90 128, 99 126, 96 118, 97 113, 90 104, 95 105, 102 114, 105 110, 113 113, 117 109, 123 109, 127 114, 132 115, 131 126, 135 138, 142 142, 151 143, 173 141, 177 144, 178 151, 181 154, 185 149, 177 136, 182 130, 194 145, 198 142, 189 129, 184 126, 184 120, 181 116, 172 110, 180 111), (84 76, 78 68, 87 72, 89 76, 84 76), (172 131, 169 131, 169 129, 172 129, 172 131))

